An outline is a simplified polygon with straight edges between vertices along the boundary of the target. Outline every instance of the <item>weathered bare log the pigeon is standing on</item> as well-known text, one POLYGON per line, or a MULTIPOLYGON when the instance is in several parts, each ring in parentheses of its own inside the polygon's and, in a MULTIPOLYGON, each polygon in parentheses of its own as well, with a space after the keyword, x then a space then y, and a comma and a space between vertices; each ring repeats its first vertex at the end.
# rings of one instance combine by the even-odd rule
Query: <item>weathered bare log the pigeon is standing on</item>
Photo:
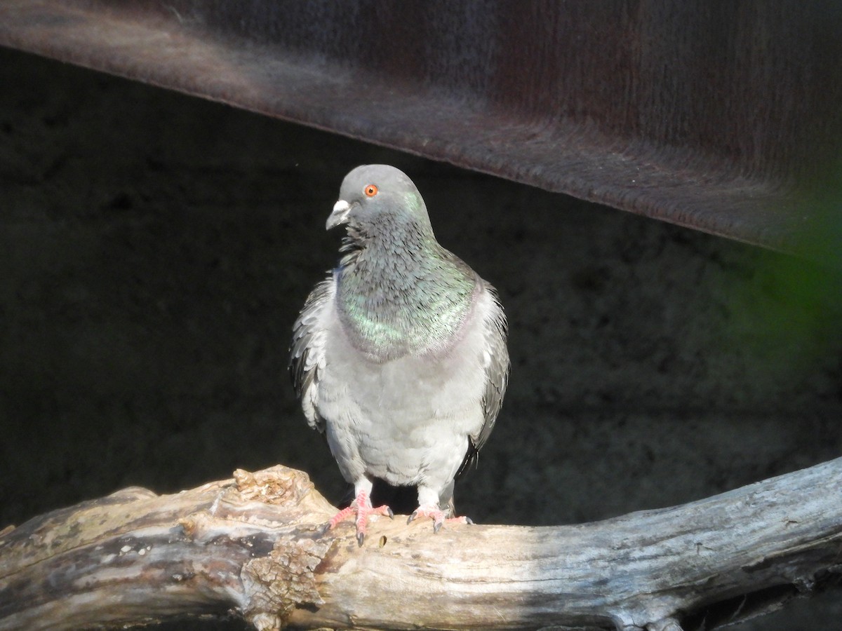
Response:
POLYGON ((0 629, 184 614, 257 628, 679 631, 842 574, 842 459, 684 506, 552 528, 381 518, 360 549, 306 474, 121 490, 0 533, 0 629))

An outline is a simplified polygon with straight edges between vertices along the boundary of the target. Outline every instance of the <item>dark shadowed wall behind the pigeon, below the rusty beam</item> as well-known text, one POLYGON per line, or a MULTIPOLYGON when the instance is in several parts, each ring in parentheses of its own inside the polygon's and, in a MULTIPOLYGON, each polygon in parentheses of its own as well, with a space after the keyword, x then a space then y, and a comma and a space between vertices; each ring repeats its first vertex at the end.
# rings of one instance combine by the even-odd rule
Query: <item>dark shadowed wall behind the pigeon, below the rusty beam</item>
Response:
MULTIPOLYGON (((460 512, 594 520, 842 453, 839 273, 0 50, 0 526, 278 462, 337 500, 286 349, 337 259, 339 183, 370 162, 408 172, 509 314, 460 512)), ((824 597, 743 628, 839 619, 824 597)))

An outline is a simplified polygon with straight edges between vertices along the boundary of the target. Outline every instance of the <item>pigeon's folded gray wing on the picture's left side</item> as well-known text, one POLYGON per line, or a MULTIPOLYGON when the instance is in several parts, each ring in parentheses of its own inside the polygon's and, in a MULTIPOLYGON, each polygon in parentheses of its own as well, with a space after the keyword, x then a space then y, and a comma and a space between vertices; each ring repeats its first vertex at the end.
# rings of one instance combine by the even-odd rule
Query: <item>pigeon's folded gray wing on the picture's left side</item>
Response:
POLYGON ((307 296, 301 314, 292 326, 290 376, 292 387, 301 400, 307 423, 324 432, 324 419, 319 416, 316 401, 319 374, 324 370, 324 346, 327 340, 325 321, 333 305, 335 283, 328 277, 307 296))

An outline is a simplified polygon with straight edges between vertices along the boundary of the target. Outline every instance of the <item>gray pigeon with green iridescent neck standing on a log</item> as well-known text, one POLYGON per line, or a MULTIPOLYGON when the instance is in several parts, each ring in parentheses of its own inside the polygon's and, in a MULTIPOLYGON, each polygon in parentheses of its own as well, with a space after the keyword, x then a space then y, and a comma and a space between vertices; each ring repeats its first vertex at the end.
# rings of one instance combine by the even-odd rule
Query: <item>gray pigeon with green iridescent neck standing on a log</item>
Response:
MULTIPOLYGON (((327 229, 346 224, 339 267, 294 326, 290 371, 307 422, 323 432, 362 545, 372 481, 418 487, 409 517, 453 519, 453 480, 477 458, 509 379, 495 289, 435 240, 427 207, 395 167, 349 172, 327 229)), ((465 517, 458 521, 469 522, 465 517)))

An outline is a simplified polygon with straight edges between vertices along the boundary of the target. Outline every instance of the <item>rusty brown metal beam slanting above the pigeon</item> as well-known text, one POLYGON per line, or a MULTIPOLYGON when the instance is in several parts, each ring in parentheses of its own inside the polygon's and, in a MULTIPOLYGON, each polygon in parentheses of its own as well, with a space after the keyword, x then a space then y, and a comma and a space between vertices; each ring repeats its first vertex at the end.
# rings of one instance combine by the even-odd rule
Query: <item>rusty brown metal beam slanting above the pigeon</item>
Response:
POLYGON ((3 0, 0 44, 767 247, 835 244, 792 194, 842 146, 833 3, 3 0))

